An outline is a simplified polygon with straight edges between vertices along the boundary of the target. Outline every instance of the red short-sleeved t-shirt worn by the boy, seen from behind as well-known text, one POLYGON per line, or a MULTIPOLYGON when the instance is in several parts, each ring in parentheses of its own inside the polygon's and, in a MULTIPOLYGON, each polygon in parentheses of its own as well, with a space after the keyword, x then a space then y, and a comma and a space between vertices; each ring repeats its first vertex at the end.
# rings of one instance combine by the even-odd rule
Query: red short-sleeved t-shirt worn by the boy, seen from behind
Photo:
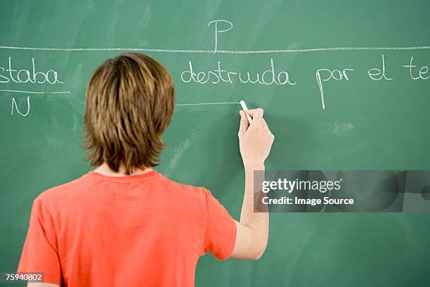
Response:
POLYGON ((62 286, 194 286, 199 257, 226 259, 235 238, 207 189, 155 171, 89 172, 34 200, 18 272, 62 286))

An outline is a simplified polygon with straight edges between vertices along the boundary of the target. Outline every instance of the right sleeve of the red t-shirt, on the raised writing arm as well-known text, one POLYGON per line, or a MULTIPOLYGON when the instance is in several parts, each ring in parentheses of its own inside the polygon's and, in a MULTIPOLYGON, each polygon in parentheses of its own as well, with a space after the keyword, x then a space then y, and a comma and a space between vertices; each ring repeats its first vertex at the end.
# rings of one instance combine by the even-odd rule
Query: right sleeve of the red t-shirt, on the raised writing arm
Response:
POLYGON ((204 189, 204 192, 207 203, 204 253, 209 252, 219 260, 226 260, 235 247, 236 223, 210 191, 204 189))

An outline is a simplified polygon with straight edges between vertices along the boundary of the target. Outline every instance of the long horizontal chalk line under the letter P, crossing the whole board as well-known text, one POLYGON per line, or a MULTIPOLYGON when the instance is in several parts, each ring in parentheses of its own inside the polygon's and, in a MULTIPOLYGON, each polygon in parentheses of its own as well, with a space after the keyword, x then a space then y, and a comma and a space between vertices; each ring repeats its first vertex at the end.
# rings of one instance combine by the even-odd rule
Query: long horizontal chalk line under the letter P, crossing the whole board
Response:
POLYGON ((50 48, 50 47, 24 47, 24 46, 0 46, 3 50, 30 50, 30 51, 141 51, 155 53, 223 53, 223 54, 264 54, 264 53, 309 53, 325 51, 405 51, 405 50, 430 50, 430 46, 408 47, 328 47, 309 49, 278 49, 278 50, 193 50, 193 49, 151 49, 151 48, 50 48))

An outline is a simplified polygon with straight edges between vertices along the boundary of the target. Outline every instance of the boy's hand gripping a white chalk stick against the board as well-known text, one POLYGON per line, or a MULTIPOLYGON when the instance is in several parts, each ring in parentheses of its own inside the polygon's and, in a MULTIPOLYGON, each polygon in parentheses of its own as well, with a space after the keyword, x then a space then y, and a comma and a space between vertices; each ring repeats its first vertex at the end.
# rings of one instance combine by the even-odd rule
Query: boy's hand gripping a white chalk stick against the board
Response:
POLYGON ((275 136, 268 128, 266 120, 263 119, 263 109, 256 108, 240 110, 239 129, 240 154, 243 164, 246 167, 259 168, 264 165, 264 161, 271 152, 271 147, 275 136), (247 113, 252 117, 252 125, 249 125, 247 113))

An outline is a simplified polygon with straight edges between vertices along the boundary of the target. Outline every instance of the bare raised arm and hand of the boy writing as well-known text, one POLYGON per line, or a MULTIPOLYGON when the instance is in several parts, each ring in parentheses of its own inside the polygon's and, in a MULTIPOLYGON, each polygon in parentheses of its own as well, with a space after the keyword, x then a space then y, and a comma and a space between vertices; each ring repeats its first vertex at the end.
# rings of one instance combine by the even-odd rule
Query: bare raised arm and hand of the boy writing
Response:
POLYGON ((239 142, 245 167, 245 195, 240 222, 236 222, 237 235, 231 258, 258 260, 268 242, 268 212, 254 212, 254 170, 264 170, 264 161, 271 151, 275 136, 263 119, 263 110, 247 110, 253 122, 249 125, 245 112, 240 111, 239 142))

